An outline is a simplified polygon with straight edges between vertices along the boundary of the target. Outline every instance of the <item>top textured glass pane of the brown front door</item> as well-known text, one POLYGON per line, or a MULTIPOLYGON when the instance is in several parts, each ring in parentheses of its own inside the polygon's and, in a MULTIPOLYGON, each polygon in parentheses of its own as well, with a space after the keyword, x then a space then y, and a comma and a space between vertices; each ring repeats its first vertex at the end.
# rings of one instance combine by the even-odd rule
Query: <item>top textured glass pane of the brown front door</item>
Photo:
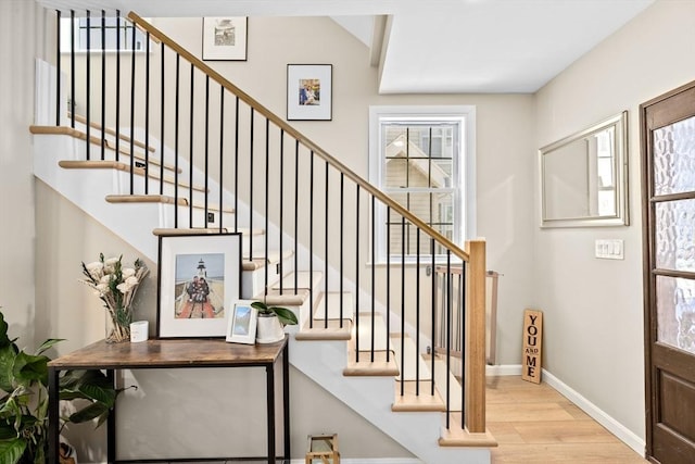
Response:
POLYGON ((695 117, 654 131, 654 192, 695 190, 695 117))

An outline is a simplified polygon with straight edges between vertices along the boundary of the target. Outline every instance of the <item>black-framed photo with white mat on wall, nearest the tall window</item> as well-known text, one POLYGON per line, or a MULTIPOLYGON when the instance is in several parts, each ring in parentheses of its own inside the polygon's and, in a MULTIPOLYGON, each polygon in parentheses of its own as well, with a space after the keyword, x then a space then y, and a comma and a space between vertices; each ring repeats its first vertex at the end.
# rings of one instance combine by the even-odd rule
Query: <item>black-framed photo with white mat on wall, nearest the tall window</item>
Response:
POLYGON ((332 64, 287 65, 287 120, 331 121, 332 64))

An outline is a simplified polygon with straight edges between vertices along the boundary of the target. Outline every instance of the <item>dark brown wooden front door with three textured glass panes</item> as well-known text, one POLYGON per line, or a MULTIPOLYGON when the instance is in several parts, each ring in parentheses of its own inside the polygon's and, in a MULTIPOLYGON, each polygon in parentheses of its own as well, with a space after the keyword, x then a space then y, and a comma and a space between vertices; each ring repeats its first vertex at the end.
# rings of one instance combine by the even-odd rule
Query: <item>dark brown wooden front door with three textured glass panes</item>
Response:
POLYGON ((640 106, 647 457, 695 463, 695 83, 640 106))

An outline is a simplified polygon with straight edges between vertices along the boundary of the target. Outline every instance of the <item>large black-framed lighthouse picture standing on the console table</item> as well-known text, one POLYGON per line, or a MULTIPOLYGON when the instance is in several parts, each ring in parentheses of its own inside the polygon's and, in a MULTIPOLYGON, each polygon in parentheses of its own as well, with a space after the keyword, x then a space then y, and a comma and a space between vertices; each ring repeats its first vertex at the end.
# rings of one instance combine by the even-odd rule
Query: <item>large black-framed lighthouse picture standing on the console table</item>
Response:
POLYGON ((160 236, 160 338, 225 337, 241 292, 241 234, 160 236))

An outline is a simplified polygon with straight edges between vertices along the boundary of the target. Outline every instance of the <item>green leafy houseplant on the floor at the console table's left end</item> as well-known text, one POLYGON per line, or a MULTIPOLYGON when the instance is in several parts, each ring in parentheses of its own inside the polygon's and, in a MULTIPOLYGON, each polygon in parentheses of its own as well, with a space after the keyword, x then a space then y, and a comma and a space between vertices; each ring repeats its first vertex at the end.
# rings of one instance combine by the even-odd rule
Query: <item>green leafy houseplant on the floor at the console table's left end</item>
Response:
MULTIPOLYGON (((48 363, 42 354, 60 342, 48 339, 29 354, 8 336, 0 312, 0 463, 45 464, 48 451, 48 363)), ((101 425, 123 391, 114 389, 101 371, 67 371, 60 378, 61 400, 85 400, 63 417, 66 423, 97 419, 101 425)), ((75 403, 77 405, 77 403, 75 403)))

